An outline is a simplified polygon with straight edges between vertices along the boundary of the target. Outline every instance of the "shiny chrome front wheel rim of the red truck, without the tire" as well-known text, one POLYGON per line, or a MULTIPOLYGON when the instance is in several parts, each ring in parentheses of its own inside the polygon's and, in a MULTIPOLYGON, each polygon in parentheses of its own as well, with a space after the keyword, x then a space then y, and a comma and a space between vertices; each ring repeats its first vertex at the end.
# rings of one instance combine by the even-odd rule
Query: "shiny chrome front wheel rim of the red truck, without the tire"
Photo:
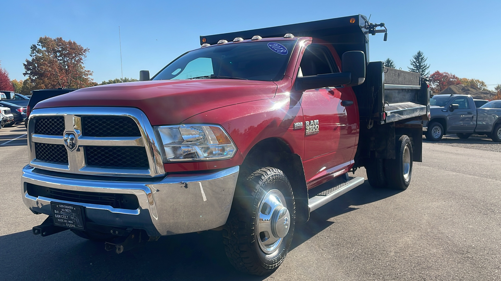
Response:
POLYGON ((291 214, 278 189, 266 193, 258 207, 256 238, 265 253, 273 253, 290 229, 291 214))

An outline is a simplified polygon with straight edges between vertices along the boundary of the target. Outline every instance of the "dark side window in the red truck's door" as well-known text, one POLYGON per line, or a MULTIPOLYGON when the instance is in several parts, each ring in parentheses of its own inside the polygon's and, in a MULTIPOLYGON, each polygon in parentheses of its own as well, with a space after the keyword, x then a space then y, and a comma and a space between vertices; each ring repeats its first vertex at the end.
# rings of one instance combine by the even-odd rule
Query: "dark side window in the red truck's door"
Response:
POLYGON ((337 73, 338 67, 328 47, 310 44, 306 47, 300 64, 298 75, 312 76, 318 74, 337 73))

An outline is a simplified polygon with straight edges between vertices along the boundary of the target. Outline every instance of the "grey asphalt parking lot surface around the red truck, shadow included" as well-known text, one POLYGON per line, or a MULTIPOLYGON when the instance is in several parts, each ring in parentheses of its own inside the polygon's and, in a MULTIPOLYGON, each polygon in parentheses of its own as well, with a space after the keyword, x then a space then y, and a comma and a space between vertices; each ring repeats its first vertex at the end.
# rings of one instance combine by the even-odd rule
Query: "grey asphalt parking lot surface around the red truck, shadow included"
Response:
MULTIPOLYGON (((403 192, 368 182, 298 225, 283 265, 265 277, 229 265, 218 231, 161 237, 122 254, 70 231, 31 228, 21 199, 24 125, 0 129, 0 276, 5 280, 500 280, 501 144, 425 141, 403 192)), ((365 176, 359 169, 356 175, 365 176)))

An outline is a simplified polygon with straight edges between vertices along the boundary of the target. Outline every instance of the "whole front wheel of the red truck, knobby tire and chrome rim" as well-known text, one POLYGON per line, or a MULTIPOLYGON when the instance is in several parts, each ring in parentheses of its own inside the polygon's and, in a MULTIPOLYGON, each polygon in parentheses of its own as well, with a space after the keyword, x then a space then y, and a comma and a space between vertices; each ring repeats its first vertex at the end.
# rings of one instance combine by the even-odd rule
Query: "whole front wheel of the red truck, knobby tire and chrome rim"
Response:
POLYGON ((275 271, 289 252, 295 218, 294 194, 282 170, 264 167, 240 177, 223 227, 230 263, 249 274, 275 271))

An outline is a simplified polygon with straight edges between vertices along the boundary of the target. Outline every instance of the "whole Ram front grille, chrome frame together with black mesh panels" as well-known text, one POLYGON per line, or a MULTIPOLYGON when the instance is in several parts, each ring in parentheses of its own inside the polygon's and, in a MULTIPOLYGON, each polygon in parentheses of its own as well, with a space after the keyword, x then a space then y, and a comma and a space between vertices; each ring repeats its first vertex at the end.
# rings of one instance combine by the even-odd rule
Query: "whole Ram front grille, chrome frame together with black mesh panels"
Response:
POLYGON ((146 115, 137 108, 35 109, 28 121, 28 144, 30 165, 41 169, 110 176, 165 174, 161 142, 146 115), (58 134, 54 126, 46 127, 51 121, 53 125, 57 121, 58 134), (64 135, 76 146, 67 147, 64 135), (63 156, 50 154, 52 146, 58 147, 58 155, 64 155, 66 150, 64 162, 63 156))

